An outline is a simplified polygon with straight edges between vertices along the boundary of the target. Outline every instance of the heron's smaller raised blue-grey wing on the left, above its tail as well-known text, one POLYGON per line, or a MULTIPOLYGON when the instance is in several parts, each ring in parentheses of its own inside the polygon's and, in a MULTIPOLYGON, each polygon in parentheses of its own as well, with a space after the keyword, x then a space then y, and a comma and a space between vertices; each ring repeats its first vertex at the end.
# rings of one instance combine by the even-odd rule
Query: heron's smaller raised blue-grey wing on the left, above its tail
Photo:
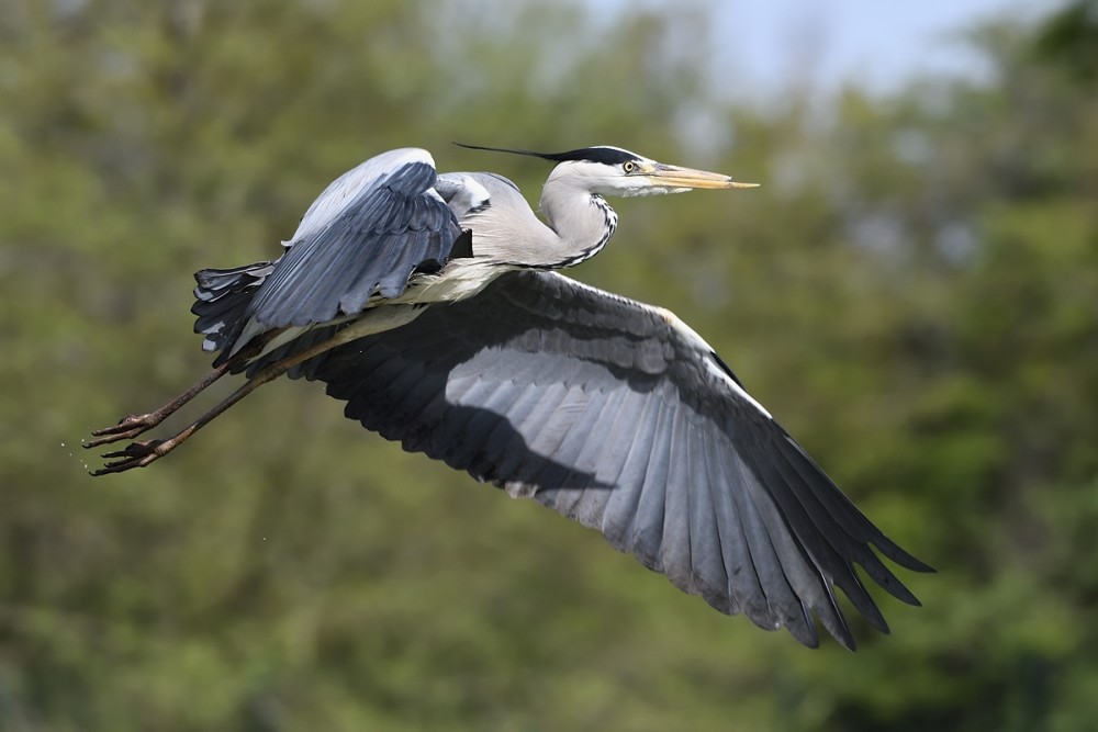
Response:
POLYGON ((337 179, 305 213, 246 317, 278 328, 356 315, 392 299, 415 271, 450 257, 461 229, 434 184, 426 150, 391 150, 337 179))

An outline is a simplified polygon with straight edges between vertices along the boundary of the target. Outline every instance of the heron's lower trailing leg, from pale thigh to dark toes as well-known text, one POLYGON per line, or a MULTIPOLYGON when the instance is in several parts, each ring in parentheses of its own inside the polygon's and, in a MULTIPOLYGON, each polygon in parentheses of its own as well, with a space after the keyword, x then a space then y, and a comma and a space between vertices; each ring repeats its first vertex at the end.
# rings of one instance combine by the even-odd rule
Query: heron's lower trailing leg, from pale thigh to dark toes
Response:
MULTIPOLYGON (((256 391, 267 382, 278 379, 299 363, 304 363, 312 358, 351 340, 356 340, 374 333, 380 333, 382 330, 389 330, 404 325, 405 323, 411 323, 417 315, 419 315, 421 312, 421 309, 408 305, 392 306, 384 308, 381 313, 378 313, 376 317, 363 317, 355 320, 341 330, 337 330, 327 340, 316 344, 313 347, 298 353, 292 353, 281 361, 276 361, 274 363, 261 369, 258 373, 240 385, 239 388, 229 394, 221 403, 195 419, 193 423, 181 429, 175 436, 166 440, 155 439, 131 442, 122 450, 105 453, 103 458, 110 460, 111 462, 108 462, 99 470, 91 471, 91 474, 108 475, 110 473, 122 473, 134 468, 145 468, 178 448, 188 438, 190 438, 191 435, 209 425, 223 412, 243 399, 245 396, 256 391)), ((206 379, 210 379, 210 375, 208 375, 206 379)), ((213 383, 214 381, 216 381, 216 378, 212 379, 210 383, 213 383)), ((201 383, 202 382, 199 382, 199 384, 201 383)), ((202 388, 197 388, 199 384, 195 384, 195 387, 188 391, 187 394, 190 394, 191 391, 193 391, 194 394, 202 391, 204 386, 202 388)), ((181 396, 186 396, 187 394, 181 396)), ((193 394, 190 394, 190 396, 193 396, 193 394)), ((188 398, 190 398, 190 396, 188 398)), ((183 403, 186 403, 186 399, 183 403)), ((165 406, 167 407, 169 405, 165 406)), ((178 406, 176 408, 178 408, 178 406)), ((168 414, 170 414, 170 412, 168 414)), ((144 429, 141 431, 144 431, 144 429)))

